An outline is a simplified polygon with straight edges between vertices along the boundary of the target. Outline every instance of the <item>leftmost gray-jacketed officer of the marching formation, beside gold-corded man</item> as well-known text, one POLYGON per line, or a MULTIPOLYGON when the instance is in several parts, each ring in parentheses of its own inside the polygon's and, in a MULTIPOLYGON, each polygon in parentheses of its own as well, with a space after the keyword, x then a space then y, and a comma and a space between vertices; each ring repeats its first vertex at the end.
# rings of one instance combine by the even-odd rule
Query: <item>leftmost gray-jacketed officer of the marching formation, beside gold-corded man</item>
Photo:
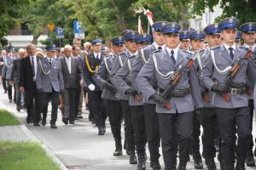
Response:
POLYGON ((96 84, 102 89, 102 99, 107 99, 107 114, 110 122, 113 139, 115 141, 115 151, 113 156, 121 156, 122 152, 122 137, 121 137, 121 122, 123 118, 121 104, 118 98, 115 97, 117 89, 110 82, 109 77, 113 68, 113 61, 117 56, 125 50, 125 39, 123 37, 113 37, 114 54, 107 55, 103 58, 99 70, 94 76, 96 84))

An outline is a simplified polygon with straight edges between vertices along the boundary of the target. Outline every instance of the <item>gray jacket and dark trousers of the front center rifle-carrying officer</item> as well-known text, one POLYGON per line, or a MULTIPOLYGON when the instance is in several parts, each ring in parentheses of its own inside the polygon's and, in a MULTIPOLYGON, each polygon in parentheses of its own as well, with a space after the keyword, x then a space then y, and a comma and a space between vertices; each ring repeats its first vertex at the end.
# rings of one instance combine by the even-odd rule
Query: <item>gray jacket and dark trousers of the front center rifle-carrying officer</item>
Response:
MULTIPOLYGON (((163 28, 162 28, 163 29, 163 28)), ((156 80, 158 87, 163 90, 167 87, 172 77, 173 71, 177 71, 181 66, 186 65, 188 59, 192 57, 189 52, 178 50, 177 61, 174 64, 166 48, 162 51, 155 51, 148 59, 137 76, 137 84, 146 99, 156 93, 150 84, 151 80, 156 80)), ((189 139, 192 133, 193 111, 202 107, 199 79, 195 66, 183 72, 183 76, 174 88, 176 90, 188 89, 191 93, 184 94, 183 97, 171 97, 167 99, 172 105, 172 109, 160 107, 157 104, 156 112, 159 113, 159 124, 163 156, 166 168, 176 167, 177 143, 176 133, 179 136, 180 162, 184 165, 189 156, 189 139), (192 97, 193 96, 193 97, 192 97), (177 123, 177 126, 175 124, 177 123), (175 128, 177 128, 175 133, 175 128)))

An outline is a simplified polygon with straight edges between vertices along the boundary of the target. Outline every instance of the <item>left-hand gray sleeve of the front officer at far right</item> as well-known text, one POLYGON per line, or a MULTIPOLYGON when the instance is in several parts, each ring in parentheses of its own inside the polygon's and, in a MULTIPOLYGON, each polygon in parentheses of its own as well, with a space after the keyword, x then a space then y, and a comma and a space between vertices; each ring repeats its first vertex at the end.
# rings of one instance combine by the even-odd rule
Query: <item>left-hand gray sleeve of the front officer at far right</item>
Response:
POLYGON ((213 72, 213 63, 211 53, 208 53, 205 61, 203 62, 203 68, 201 71, 201 80, 205 84, 205 86, 211 90, 214 82, 212 81, 212 72, 213 72))

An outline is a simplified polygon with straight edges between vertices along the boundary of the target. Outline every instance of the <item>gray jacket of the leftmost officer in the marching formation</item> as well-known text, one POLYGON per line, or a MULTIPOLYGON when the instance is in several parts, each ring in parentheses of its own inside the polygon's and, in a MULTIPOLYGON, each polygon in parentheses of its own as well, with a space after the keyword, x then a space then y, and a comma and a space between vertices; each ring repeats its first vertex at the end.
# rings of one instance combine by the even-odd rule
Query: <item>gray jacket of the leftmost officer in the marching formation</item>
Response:
POLYGON ((102 90, 102 98, 103 99, 112 99, 112 100, 119 100, 115 97, 115 94, 110 92, 108 88, 104 87, 104 83, 108 82, 111 83, 109 80, 110 72, 113 68, 113 61, 116 59, 115 54, 111 54, 108 56, 105 56, 102 60, 102 64, 100 65, 100 68, 98 71, 96 71, 96 74, 94 76, 94 80, 97 83, 98 87, 102 90))

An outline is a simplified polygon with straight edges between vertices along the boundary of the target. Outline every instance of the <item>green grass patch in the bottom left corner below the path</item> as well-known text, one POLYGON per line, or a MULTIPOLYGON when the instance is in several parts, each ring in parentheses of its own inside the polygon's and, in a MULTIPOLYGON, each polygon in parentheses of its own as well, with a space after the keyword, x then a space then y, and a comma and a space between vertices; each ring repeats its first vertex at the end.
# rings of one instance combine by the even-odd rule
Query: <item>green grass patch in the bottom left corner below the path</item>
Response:
POLYGON ((38 143, 0 142, 0 169, 60 170, 38 143))

